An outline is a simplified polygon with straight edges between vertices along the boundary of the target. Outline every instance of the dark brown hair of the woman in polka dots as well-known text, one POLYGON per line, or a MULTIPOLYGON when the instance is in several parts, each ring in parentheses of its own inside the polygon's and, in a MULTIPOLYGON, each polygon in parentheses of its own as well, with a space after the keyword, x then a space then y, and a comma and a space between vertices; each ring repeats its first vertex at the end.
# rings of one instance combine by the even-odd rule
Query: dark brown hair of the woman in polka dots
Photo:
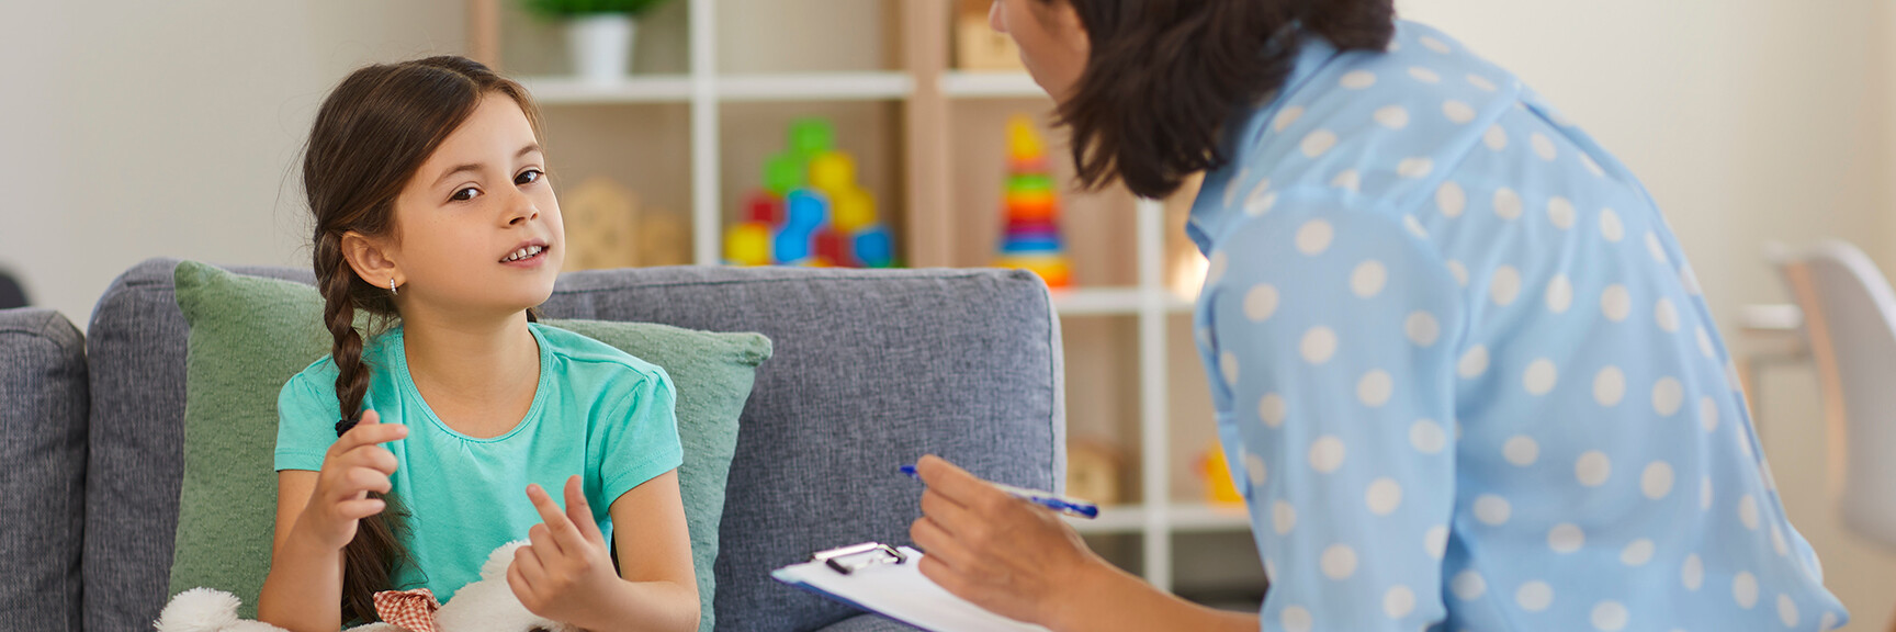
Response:
POLYGON ((1284 84, 1297 30, 1337 49, 1375 51, 1395 34, 1394 0, 1035 2, 1073 6, 1092 42, 1058 110, 1073 133, 1081 186, 1121 180, 1145 197, 1229 159, 1219 148, 1225 123, 1284 84))

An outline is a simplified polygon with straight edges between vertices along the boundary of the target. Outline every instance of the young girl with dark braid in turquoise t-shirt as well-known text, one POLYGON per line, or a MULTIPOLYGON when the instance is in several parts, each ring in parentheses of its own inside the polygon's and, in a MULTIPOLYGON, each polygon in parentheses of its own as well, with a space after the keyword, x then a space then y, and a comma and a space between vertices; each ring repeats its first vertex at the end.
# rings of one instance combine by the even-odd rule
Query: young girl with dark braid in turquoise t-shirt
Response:
POLYGON ((356 70, 303 186, 336 345, 279 399, 258 619, 337 630, 379 590, 447 602, 525 535, 506 577, 533 613, 696 630, 669 378, 531 313, 565 235, 527 91, 461 57, 356 70), (398 325, 364 340, 356 311, 398 325))

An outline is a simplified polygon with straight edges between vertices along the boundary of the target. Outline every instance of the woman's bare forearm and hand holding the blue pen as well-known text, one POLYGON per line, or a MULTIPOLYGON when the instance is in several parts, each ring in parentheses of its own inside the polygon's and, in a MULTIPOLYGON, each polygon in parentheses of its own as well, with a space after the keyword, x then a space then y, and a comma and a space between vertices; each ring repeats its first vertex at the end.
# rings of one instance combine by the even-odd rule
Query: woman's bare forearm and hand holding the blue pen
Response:
POLYGON ((1257 630, 1257 615, 1196 605, 1126 575, 1050 511, 940 457, 921 457, 918 473, 929 486, 910 528, 927 550, 921 575, 963 600, 1060 632, 1257 630))

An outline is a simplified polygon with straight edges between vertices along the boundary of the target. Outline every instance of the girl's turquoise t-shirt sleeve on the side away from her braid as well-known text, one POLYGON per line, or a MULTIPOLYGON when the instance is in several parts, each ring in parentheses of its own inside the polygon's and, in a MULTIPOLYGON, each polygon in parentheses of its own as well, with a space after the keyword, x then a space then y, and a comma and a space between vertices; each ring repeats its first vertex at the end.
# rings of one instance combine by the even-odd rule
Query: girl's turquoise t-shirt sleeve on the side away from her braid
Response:
POLYGON ((679 446, 679 393, 671 376, 650 366, 639 372, 639 380, 626 383, 628 389, 611 389, 607 395, 620 404, 601 406, 612 412, 593 421, 603 438, 597 467, 607 505, 684 463, 684 448, 679 446))

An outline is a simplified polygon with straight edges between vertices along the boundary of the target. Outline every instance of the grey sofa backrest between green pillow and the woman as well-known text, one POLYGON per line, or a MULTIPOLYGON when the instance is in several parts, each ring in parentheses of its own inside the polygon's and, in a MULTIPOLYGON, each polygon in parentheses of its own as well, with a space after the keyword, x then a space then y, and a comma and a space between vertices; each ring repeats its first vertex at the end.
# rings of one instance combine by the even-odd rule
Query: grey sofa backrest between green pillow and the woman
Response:
POLYGON ((717 560, 719 630, 811 630, 853 607, 770 571, 908 543, 940 454, 1054 490, 1066 473, 1060 328, 1028 271, 660 268, 561 277, 546 313, 755 330, 775 342, 738 435, 717 560))

